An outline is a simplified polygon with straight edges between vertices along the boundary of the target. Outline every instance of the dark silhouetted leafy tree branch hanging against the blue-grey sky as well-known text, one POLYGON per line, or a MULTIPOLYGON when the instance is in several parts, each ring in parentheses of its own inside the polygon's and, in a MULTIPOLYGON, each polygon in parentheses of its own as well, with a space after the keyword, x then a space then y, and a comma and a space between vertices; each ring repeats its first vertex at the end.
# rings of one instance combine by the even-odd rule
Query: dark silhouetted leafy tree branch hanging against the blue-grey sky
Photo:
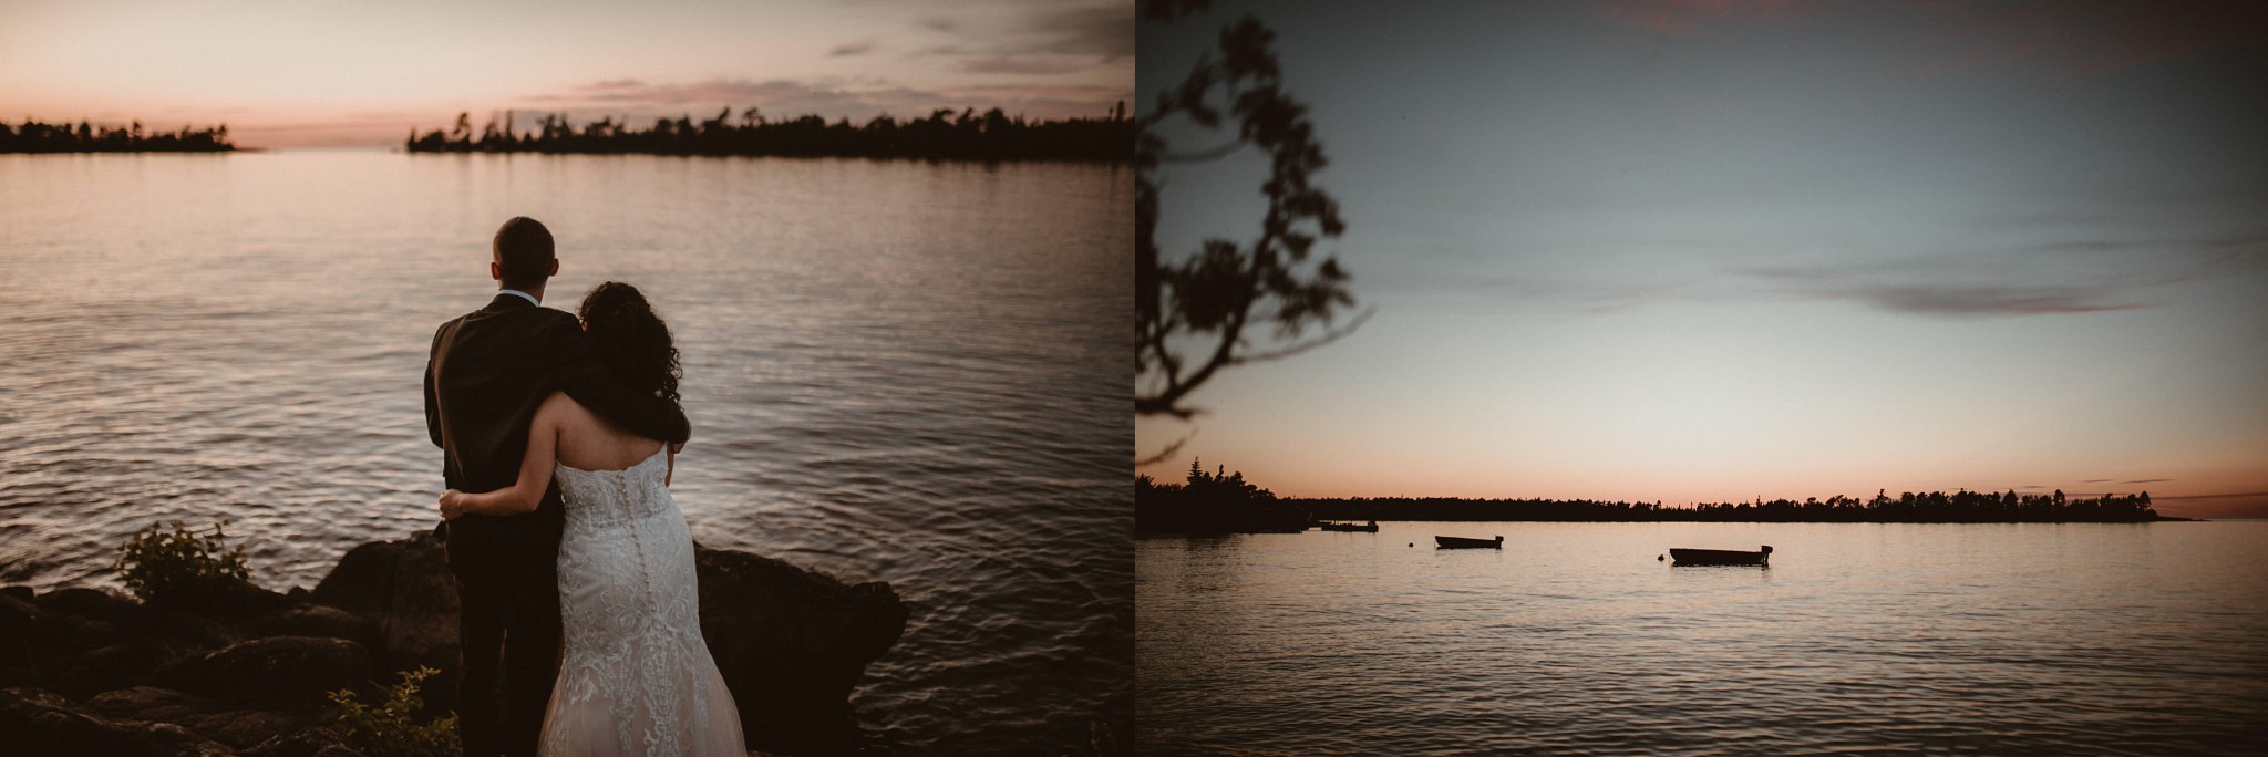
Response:
MULTIPOLYGON (((1143 16, 1173 20, 1202 7, 1204 2, 1157 0, 1143 7, 1143 16)), ((1157 95, 1150 113, 1136 118, 1136 415, 1186 419, 1198 412, 1186 406, 1188 392, 1222 367, 1293 356, 1329 345, 1361 324, 1359 317, 1329 329, 1336 311, 1354 304, 1349 277, 1338 258, 1309 263, 1309 256, 1318 238, 1340 236, 1345 222, 1338 218, 1338 202, 1311 181, 1329 161, 1306 120, 1306 104, 1284 91, 1272 41, 1275 32, 1250 16, 1232 23, 1220 32, 1220 57, 1200 57, 1179 84, 1157 95), (1168 152, 1159 125, 1173 118, 1211 131, 1232 129, 1234 141, 1200 152, 1168 152), (1163 261, 1157 247, 1163 184, 1159 168, 1216 161, 1247 145, 1268 152, 1268 177, 1261 181, 1268 213, 1259 238, 1243 245, 1207 238, 1195 252, 1163 261), (1300 340, 1318 324, 1329 331, 1300 340), (1268 326, 1270 333, 1254 333, 1268 326)))

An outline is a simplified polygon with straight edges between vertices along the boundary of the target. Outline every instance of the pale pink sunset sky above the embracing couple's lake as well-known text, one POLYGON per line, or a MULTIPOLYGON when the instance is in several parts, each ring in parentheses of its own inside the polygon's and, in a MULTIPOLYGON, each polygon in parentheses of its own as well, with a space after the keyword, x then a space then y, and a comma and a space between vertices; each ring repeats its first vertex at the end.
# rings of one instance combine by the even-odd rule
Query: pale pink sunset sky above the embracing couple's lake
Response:
POLYGON ((891 2, 0 0, 0 118, 227 122, 238 145, 399 145, 458 111, 864 122, 1102 116, 1132 95, 1134 7, 891 2))

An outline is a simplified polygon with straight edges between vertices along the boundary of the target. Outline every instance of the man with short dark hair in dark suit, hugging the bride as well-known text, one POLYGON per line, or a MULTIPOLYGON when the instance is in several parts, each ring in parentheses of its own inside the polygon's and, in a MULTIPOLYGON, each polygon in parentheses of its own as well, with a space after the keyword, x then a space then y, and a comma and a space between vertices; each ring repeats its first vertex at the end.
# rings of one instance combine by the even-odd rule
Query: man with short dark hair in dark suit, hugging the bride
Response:
MULTIPOLYGON (((501 292, 433 333, 426 431, 445 453, 442 478, 451 490, 492 492, 519 480, 528 422, 551 392, 567 392, 637 435, 674 444, 692 435, 674 403, 637 394, 606 372, 574 315, 540 306, 558 270, 544 224, 506 220, 488 263, 501 292)), ((535 755, 560 657, 560 528, 558 487, 528 514, 465 514, 442 524, 463 607, 465 755, 535 755)))

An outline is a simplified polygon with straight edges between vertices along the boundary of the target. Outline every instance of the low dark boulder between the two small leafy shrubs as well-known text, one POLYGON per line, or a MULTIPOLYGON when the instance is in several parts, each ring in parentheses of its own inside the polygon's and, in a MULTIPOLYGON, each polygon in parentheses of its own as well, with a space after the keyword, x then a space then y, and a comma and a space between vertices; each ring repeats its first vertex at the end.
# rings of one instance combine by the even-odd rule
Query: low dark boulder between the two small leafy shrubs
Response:
POLYGON ((370 650, 347 639, 272 637, 240 641, 166 666, 152 682, 231 703, 311 707, 327 691, 365 689, 370 650))

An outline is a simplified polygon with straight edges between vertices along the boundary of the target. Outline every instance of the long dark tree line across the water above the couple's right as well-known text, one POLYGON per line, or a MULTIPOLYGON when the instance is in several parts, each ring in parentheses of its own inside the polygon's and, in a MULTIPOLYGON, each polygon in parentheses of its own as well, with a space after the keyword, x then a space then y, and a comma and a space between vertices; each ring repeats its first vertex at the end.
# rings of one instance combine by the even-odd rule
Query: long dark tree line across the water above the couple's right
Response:
POLYGON ((1120 102, 1107 118, 1025 120, 1000 109, 978 113, 937 109, 928 118, 875 116, 864 125, 819 116, 771 120, 760 109, 714 118, 658 118, 635 129, 628 118, 574 125, 562 113, 542 113, 528 131, 506 111, 479 131, 472 113, 458 113, 447 131, 415 129, 408 152, 576 152, 576 154, 744 154, 744 156, 857 156, 937 161, 1132 161, 1134 120, 1120 102))

